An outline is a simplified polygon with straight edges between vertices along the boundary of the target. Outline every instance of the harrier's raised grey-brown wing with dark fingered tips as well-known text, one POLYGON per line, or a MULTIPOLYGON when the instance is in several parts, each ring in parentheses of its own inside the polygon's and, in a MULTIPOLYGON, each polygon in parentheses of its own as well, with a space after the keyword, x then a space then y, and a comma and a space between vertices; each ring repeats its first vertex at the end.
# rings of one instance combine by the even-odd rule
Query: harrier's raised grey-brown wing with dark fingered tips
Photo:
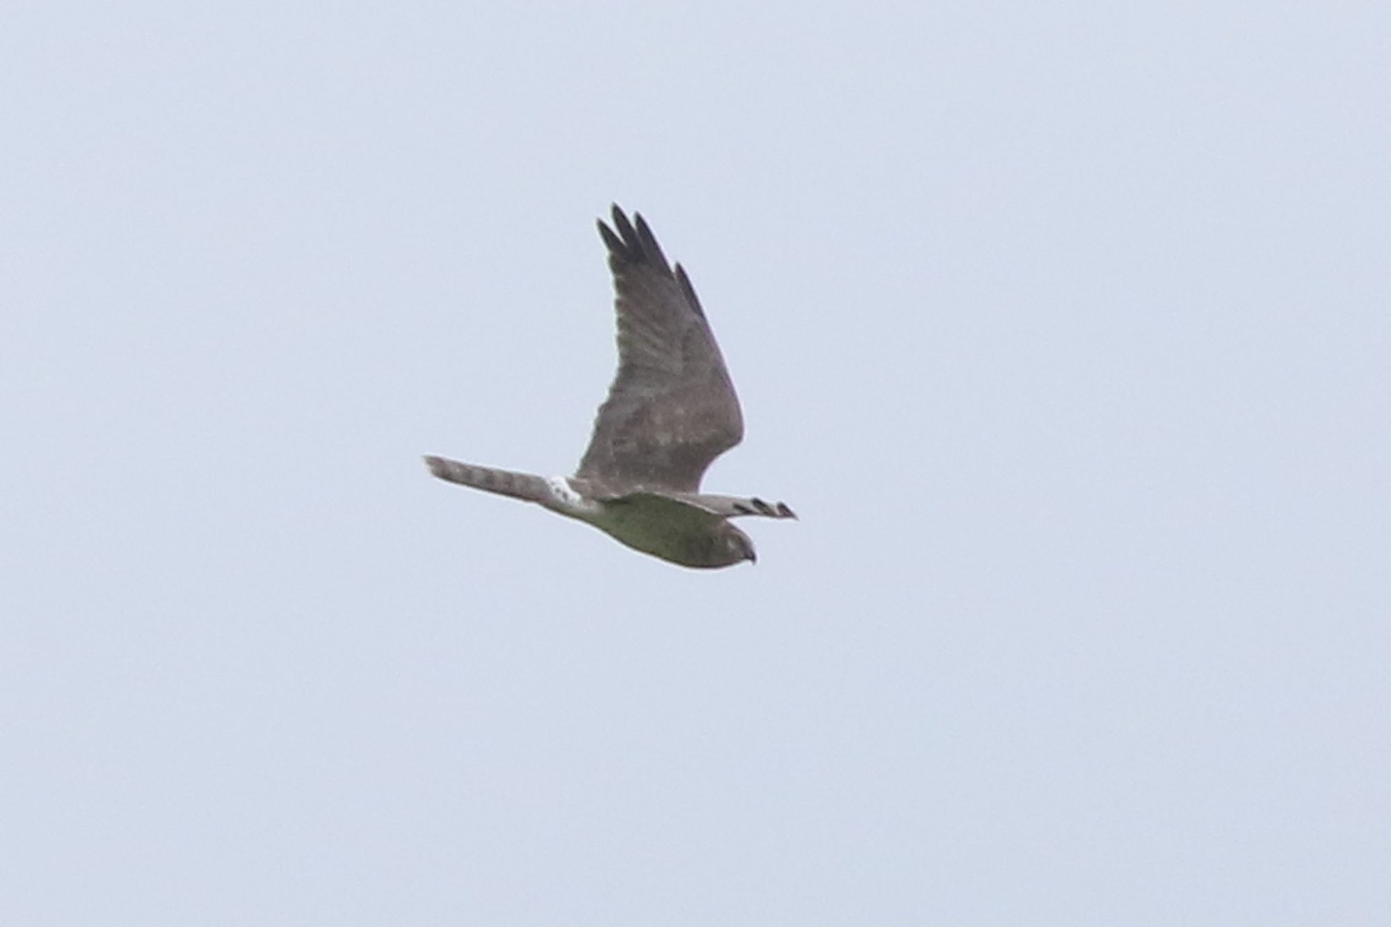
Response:
POLYGON ((693 493, 744 437, 739 397, 690 278, 643 217, 615 206, 613 228, 598 225, 618 292, 618 376, 576 476, 611 493, 693 493))

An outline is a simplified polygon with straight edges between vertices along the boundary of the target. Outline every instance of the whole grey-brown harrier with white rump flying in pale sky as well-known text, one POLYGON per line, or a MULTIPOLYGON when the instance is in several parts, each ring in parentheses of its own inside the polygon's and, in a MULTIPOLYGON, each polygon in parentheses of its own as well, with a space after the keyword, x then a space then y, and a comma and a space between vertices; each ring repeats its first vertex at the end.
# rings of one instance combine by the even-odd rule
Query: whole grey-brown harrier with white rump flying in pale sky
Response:
POLYGON ((796 518, 761 498, 708 496, 711 461, 744 437, 725 359, 680 264, 673 273, 652 230, 613 207, 598 223, 618 309, 618 374, 574 476, 545 479, 427 457, 442 480, 537 502, 683 566, 757 560, 739 515, 796 518), (615 228, 618 230, 615 232, 615 228))

